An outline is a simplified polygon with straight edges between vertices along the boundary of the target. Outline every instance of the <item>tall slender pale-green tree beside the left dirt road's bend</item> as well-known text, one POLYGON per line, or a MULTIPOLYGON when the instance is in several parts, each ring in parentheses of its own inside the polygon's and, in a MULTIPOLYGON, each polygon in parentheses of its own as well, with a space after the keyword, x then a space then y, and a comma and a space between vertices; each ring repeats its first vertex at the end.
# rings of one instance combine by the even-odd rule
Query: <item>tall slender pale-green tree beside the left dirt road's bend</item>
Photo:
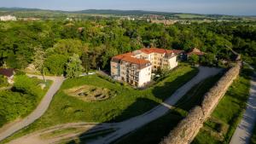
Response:
MULTIPOLYGON (((44 78, 44 60, 45 60, 44 49, 40 47, 35 47, 34 51, 35 51, 35 54, 33 57, 33 64, 38 70, 38 72, 40 72, 44 78)), ((45 78, 44 78, 44 82, 46 82, 45 78)))

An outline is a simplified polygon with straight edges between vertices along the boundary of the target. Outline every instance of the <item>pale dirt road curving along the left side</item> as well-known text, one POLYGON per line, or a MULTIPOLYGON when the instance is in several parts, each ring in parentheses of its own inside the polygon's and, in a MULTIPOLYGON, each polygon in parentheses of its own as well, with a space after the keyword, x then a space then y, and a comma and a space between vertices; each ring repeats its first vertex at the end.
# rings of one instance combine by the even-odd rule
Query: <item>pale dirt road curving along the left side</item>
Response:
MULTIPOLYGON (((28 75, 28 76, 43 79, 42 76, 37 76, 37 75, 28 75)), ((9 126, 8 129, 3 130, 0 133, 0 141, 3 141, 5 138, 9 137, 10 135, 13 135, 18 130, 25 128, 29 124, 32 124, 35 120, 40 118, 44 114, 44 112, 46 112, 47 108, 49 107, 50 101, 52 100, 53 96, 58 91, 58 89, 61 88, 61 84, 64 82, 65 78, 46 76, 45 79, 52 80, 53 84, 50 86, 49 90, 44 95, 44 98, 39 103, 38 107, 26 118, 21 119, 19 122, 9 126)))

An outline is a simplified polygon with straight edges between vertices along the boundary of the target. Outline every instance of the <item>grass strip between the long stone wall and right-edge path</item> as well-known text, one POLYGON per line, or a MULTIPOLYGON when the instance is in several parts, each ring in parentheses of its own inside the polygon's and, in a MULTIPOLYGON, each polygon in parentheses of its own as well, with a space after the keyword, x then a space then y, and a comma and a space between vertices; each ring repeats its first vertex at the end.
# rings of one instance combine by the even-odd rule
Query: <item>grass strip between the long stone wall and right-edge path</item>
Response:
POLYGON ((251 73, 243 69, 239 78, 230 86, 218 107, 212 112, 193 144, 229 143, 246 108, 251 73))

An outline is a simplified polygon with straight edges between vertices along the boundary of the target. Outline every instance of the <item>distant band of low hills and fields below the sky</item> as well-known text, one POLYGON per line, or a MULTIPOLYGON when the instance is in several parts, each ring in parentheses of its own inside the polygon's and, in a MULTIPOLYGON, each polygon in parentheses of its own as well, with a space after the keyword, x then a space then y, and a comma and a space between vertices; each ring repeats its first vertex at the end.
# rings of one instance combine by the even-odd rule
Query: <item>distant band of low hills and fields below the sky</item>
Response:
POLYGON ((116 10, 116 9, 87 9, 79 11, 61 11, 49 9, 26 9, 26 8, 0 8, 0 15, 13 14, 18 17, 68 17, 68 16, 95 16, 114 15, 114 16, 143 16, 143 15, 160 15, 167 19, 181 19, 181 20, 240 20, 241 18, 254 18, 255 16, 235 16, 224 14, 186 14, 186 13, 169 13, 158 11, 143 11, 143 10, 116 10))

